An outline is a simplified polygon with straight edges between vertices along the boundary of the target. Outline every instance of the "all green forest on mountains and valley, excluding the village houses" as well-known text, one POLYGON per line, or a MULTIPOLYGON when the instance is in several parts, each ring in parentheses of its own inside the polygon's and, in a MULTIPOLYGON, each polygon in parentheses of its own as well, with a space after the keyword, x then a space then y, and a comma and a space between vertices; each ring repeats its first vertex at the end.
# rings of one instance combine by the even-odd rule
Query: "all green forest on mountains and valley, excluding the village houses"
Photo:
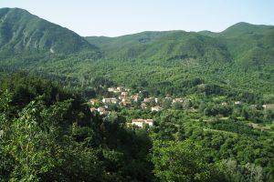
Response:
POLYGON ((81 37, 22 9, 0 20, 0 181, 274 180, 274 26, 81 37), (90 112, 111 86, 163 110, 90 112))

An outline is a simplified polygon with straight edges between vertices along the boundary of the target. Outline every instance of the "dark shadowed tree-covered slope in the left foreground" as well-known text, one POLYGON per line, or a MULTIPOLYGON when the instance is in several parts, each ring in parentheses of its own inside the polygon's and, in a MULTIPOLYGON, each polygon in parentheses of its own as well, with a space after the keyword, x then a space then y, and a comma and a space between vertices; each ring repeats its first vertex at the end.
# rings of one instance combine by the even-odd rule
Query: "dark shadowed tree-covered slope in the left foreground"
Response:
POLYGON ((15 74, 0 81, 0 179, 148 181, 151 141, 121 117, 88 106, 47 80, 15 74))

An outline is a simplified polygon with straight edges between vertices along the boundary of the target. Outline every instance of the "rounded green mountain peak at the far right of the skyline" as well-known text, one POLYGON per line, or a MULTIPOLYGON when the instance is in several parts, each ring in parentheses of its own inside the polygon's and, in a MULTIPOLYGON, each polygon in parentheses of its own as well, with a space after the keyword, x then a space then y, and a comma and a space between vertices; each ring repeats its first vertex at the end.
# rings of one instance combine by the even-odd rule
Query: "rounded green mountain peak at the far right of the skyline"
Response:
POLYGON ((246 68, 274 66, 274 26, 238 23, 219 33, 235 62, 246 68))

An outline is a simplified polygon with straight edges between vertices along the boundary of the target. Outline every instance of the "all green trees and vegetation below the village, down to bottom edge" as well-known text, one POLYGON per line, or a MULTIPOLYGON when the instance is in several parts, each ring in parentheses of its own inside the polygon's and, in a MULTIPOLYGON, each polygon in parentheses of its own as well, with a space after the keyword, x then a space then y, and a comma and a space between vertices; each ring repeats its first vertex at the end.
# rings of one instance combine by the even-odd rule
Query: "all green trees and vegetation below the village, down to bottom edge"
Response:
POLYGON ((41 78, 2 75, 0 86, 3 181, 273 180, 273 127, 248 125, 271 124, 273 113, 263 109, 223 111, 194 100, 195 110, 121 106, 99 116, 77 94, 41 78), (126 125, 136 116, 155 125, 126 125))

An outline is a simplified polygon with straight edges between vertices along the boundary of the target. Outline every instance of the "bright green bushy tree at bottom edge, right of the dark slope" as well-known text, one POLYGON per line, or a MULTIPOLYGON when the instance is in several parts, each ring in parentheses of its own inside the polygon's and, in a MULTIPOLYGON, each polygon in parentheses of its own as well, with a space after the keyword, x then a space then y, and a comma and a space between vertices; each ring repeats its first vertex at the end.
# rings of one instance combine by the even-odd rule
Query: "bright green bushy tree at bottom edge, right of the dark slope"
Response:
POLYGON ((159 181, 210 181, 212 165, 206 162, 204 152, 191 140, 154 141, 153 173, 159 181))

